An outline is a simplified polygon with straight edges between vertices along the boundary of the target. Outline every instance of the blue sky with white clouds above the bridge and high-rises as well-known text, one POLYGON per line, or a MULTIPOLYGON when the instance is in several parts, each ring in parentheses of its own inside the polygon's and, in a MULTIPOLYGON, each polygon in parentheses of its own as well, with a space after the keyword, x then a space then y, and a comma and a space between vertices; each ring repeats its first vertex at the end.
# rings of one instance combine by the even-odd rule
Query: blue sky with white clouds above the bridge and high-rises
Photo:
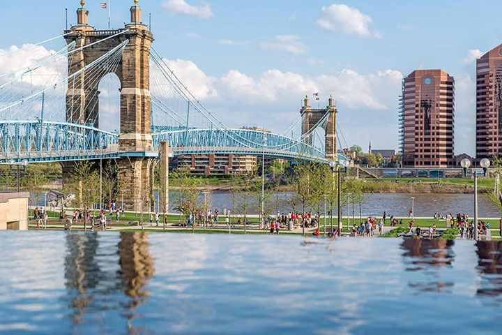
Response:
MULTIPOLYGON (((0 49, 63 34, 79 0, 2 1, 0 49), (8 34, 6 34, 8 32, 8 34)), ((107 28, 105 0, 86 0, 107 28)), ((112 27, 132 0, 112 0, 112 27)), ((455 154, 474 154, 476 58, 502 43, 500 1, 139 0, 154 47, 227 126, 282 133, 305 94, 333 94, 342 145, 397 149, 401 80, 418 68, 455 77, 455 154)), ((61 38, 47 45, 59 50, 61 38)), ((16 60, 17 62, 19 59, 16 60)), ((0 73, 15 68, 1 61, 0 73)))

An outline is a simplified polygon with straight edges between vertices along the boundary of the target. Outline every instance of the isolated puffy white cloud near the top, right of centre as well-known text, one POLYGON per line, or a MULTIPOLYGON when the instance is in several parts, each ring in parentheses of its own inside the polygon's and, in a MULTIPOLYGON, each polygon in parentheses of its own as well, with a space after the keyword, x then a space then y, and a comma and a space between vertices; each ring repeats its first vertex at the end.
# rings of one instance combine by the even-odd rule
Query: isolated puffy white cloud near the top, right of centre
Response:
POLYGON ((372 18, 360 13, 356 8, 333 3, 330 6, 323 6, 321 10, 322 15, 317 20, 317 24, 326 31, 360 37, 381 37, 378 31, 370 31, 372 18))

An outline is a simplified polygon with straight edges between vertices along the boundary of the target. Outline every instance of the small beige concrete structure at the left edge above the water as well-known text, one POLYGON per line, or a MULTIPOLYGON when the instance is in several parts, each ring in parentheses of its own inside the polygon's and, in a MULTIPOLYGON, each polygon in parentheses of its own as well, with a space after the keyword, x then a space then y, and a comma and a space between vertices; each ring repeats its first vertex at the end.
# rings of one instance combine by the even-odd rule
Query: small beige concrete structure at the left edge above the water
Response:
POLYGON ((28 230, 29 193, 0 193, 0 230, 28 230))

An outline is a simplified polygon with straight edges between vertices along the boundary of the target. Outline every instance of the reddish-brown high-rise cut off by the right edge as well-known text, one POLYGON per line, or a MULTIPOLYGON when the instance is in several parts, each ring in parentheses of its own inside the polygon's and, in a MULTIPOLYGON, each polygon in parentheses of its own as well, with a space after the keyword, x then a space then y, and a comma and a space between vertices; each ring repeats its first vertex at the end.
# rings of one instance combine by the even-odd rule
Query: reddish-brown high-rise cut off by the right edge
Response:
POLYGON ((502 44, 476 60, 476 161, 502 154, 502 44))

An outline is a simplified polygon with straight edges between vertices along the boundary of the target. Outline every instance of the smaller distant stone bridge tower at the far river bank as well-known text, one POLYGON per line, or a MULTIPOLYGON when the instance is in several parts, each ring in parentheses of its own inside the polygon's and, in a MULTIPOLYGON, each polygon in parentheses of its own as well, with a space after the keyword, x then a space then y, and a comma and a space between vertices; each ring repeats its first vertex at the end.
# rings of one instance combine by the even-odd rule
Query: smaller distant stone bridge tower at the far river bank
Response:
MULTIPOLYGON (((302 135, 308 133, 323 117, 328 113, 328 119, 324 124, 320 124, 326 131, 326 159, 337 161, 337 135, 336 135, 336 117, 338 110, 333 105, 333 96, 330 96, 329 103, 326 108, 314 109, 309 105, 308 96, 305 96, 303 107, 300 110, 301 114, 305 114, 302 121, 302 135)), ((312 144, 312 135, 305 139, 305 142, 312 144)))

